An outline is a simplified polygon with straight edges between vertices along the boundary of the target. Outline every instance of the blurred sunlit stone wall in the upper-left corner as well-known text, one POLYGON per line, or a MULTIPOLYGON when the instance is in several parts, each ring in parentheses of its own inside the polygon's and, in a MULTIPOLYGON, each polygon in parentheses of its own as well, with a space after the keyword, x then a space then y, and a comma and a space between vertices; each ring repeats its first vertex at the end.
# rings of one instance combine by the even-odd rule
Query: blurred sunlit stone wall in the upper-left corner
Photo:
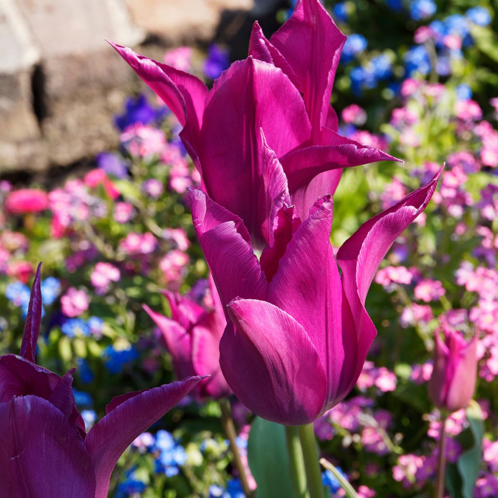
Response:
POLYGON ((138 81, 105 38, 144 54, 144 42, 207 43, 227 13, 237 29, 274 3, 0 0, 0 174, 71 164, 116 144, 111 116, 138 81))

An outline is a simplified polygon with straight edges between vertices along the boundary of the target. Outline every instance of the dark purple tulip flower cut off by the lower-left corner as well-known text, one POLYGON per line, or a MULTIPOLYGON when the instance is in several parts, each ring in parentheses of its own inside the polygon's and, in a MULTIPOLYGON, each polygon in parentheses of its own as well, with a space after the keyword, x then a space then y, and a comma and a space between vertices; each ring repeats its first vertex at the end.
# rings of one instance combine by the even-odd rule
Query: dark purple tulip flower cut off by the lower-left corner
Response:
POLYGON ((35 364, 40 322, 38 265, 20 356, 0 356, 0 497, 107 498, 124 450, 201 377, 117 396, 86 434, 71 388, 75 369, 59 377, 35 364))

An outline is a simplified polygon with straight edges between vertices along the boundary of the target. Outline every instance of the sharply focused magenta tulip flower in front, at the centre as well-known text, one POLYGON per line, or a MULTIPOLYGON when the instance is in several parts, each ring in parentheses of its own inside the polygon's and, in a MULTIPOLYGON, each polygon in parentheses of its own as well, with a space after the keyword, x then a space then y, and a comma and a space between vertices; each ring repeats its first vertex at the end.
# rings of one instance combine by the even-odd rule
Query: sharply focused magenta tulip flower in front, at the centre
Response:
POLYGON ((190 188, 194 227, 227 306, 221 369, 250 410, 274 422, 306 424, 351 391, 376 335, 365 309, 373 276, 427 206, 440 173, 344 243, 337 254, 342 275, 330 245, 331 195, 302 222, 288 194, 277 196, 269 244, 258 260, 243 221, 190 188))

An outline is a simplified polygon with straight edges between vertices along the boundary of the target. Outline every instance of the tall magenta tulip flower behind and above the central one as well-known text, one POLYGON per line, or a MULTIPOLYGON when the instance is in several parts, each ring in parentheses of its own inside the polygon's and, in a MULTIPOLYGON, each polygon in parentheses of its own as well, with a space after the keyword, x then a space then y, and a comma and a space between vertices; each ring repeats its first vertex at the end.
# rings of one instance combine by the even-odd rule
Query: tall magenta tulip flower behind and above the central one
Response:
POLYGON ((211 91, 191 74, 111 44, 178 118, 203 189, 242 218, 254 245, 264 247, 273 198, 263 134, 303 219, 318 196, 335 191, 342 168, 396 160, 337 133, 330 96, 344 40, 319 0, 303 0, 270 41, 256 23, 249 57, 234 62, 211 91))

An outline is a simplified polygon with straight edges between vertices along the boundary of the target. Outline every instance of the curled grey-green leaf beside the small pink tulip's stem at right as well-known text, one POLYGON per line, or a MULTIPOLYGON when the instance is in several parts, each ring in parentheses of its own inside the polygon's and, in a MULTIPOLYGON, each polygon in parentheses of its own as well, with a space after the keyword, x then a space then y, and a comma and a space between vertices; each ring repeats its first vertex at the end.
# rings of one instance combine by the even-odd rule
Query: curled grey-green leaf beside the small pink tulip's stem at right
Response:
POLYGON ((483 413, 472 400, 467 408, 469 427, 457 437, 463 451, 456 464, 448 465, 446 487, 451 498, 472 498, 482 461, 483 413))

